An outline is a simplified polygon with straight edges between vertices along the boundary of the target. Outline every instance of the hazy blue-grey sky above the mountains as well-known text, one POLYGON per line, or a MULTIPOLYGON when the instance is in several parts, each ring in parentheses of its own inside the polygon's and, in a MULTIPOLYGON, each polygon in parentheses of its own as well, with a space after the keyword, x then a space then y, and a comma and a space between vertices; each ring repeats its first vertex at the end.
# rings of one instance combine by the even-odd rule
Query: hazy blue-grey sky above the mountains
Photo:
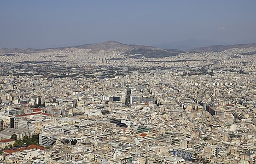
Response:
POLYGON ((0 1, 0 47, 256 42, 255 0, 0 1))

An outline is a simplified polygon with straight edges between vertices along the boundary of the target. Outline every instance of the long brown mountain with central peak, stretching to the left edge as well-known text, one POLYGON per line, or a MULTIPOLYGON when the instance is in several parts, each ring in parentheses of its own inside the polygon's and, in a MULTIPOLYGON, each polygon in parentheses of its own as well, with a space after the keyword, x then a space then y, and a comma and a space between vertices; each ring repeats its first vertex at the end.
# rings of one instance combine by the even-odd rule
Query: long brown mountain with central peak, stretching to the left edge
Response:
POLYGON ((167 57, 181 54, 182 50, 177 49, 161 49, 155 48, 153 46, 145 46, 145 45, 128 45, 115 41, 107 41, 103 43, 95 43, 95 44, 84 44, 77 46, 67 46, 61 48, 49 48, 49 49, 6 49, 0 48, 0 53, 25 53, 25 54, 33 54, 36 52, 50 52, 53 50, 61 50, 61 49, 88 49, 91 54, 96 54, 98 52, 119 52, 120 54, 125 55, 126 57, 138 58, 138 57, 167 57))

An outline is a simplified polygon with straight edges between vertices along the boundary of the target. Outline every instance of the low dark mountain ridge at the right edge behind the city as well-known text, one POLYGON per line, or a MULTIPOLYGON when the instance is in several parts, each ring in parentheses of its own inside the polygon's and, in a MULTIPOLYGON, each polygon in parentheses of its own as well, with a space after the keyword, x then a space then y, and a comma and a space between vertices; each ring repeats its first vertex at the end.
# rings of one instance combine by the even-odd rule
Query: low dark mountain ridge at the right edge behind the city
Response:
POLYGON ((202 48, 196 48, 196 49, 191 49, 189 51, 195 51, 195 52, 217 52, 217 51, 225 51, 228 49, 241 49, 241 48, 250 48, 250 47, 255 47, 256 48, 256 43, 251 43, 251 44, 235 44, 235 45, 211 45, 211 46, 206 46, 202 48))

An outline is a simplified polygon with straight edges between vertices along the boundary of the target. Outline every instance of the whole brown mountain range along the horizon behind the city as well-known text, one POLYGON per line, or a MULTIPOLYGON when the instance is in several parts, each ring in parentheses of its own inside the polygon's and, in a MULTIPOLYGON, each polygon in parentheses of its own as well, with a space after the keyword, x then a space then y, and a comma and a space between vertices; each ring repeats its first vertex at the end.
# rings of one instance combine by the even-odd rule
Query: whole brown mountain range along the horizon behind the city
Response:
MULTIPOLYGON (((249 48, 255 47, 256 43, 252 44, 236 44, 236 45, 211 45, 206 46, 203 48, 195 48, 190 49, 188 51, 193 52, 211 52, 211 51, 224 51, 233 48, 249 48)), ((50 52, 53 50, 61 50, 61 49, 88 49, 92 54, 98 52, 120 52, 124 55, 129 55, 133 58, 137 57, 167 57, 167 56, 174 56, 185 52, 179 49, 163 49, 163 48, 156 48, 154 46, 145 46, 145 45, 135 45, 135 44, 123 44, 115 41, 107 41, 103 43, 95 43, 95 44, 84 44, 84 45, 77 45, 77 46, 66 46, 61 48, 48 48, 48 49, 32 49, 32 48, 25 48, 25 49, 8 49, 8 48, 0 48, 0 53, 4 54, 15 54, 15 53, 25 53, 25 54, 32 54, 36 52, 50 52)))

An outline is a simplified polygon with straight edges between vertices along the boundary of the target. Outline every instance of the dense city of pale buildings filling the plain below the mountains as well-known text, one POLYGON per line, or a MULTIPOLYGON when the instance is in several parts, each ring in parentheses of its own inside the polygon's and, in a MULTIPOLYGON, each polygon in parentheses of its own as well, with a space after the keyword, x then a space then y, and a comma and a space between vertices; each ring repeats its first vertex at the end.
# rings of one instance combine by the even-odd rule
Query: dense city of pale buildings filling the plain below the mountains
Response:
POLYGON ((255 163, 256 48, 0 53, 0 163, 255 163))

